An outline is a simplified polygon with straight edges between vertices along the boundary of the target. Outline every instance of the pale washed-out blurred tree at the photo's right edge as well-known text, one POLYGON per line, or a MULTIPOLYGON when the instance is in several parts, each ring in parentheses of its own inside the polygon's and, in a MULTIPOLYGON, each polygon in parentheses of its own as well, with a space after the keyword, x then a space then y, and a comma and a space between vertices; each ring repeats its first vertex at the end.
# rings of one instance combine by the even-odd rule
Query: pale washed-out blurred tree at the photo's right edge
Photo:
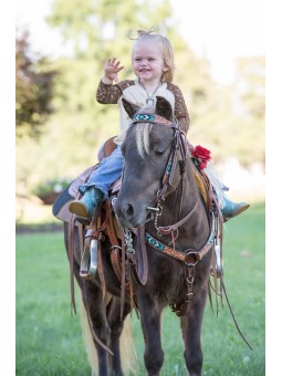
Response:
POLYGON ((264 165, 264 58, 237 61, 234 83, 208 85, 197 106, 192 140, 212 150, 215 161, 236 157, 241 165, 264 165))

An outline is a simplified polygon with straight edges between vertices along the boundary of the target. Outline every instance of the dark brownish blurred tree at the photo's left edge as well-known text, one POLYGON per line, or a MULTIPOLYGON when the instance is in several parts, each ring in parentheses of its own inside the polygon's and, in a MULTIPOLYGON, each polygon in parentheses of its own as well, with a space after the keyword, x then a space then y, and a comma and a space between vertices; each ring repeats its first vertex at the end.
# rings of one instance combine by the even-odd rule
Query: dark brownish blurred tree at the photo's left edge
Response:
POLYGON ((51 98, 55 71, 46 58, 31 58, 29 33, 15 40, 15 126, 17 137, 38 137, 48 115, 52 113, 51 98))

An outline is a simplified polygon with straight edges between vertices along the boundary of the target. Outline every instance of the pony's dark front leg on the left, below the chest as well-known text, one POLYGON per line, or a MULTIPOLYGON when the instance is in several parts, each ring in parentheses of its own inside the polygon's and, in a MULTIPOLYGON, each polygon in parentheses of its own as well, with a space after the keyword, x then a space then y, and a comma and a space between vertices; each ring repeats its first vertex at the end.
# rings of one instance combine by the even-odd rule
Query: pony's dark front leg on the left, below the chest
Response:
POLYGON ((149 376, 157 376, 164 363, 164 351, 160 342, 163 307, 160 307, 156 299, 154 300, 148 295, 138 296, 138 304, 145 341, 145 366, 149 376))

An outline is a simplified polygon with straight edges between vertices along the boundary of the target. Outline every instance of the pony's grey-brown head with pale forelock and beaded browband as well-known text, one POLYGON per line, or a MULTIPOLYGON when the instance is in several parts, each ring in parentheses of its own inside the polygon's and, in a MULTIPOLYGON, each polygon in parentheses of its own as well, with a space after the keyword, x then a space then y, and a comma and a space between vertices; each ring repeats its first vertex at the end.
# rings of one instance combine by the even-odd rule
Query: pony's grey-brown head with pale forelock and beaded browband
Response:
POLYGON ((135 228, 145 223, 148 207, 156 206, 169 178, 178 130, 167 100, 157 97, 155 107, 143 108, 123 103, 133 123, 122 146, 125 161, 115 212, 124 228, 135 228))

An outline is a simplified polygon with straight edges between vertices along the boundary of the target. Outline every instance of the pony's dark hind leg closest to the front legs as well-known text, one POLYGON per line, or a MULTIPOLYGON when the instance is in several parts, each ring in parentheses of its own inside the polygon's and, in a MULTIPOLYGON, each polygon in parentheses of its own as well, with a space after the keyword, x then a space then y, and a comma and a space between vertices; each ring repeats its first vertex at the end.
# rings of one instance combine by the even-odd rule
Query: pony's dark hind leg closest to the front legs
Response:
POLYGON ((109 348, 114 353, 114 356, 109 357, 109 375, 123 375, 119 338, 124 327, 124 320, 129 310, 129 305, 125 304, 123 318, 121 320, 121 300, 113 297, 107 306, 107 323, 111 328, 109 348))

